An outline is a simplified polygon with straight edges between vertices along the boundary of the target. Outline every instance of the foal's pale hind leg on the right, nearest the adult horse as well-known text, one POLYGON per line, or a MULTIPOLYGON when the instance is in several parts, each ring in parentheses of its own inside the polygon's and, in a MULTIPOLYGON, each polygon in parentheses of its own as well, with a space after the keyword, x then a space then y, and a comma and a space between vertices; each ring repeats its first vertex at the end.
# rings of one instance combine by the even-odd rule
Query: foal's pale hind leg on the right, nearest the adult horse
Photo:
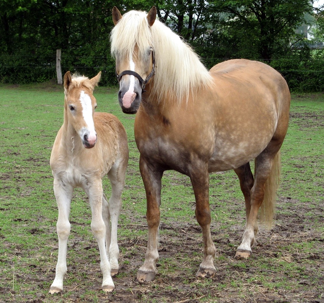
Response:
POLYGON ((110 242, 107 243, 106 241, 106 245, 107 245, 106 250, 109 256, 112 276, 118 274, 119 271, 119 265, 118 265, 119 247, 117 242, 117 228, 118 228, 119 215, 121 213, 121 194, 125 185, 125 174, 126 174, 125 165, 113 166, 108 173, 108 178, 111 183, 111 197, 109 199, 111 235, 110 235, 110 242))

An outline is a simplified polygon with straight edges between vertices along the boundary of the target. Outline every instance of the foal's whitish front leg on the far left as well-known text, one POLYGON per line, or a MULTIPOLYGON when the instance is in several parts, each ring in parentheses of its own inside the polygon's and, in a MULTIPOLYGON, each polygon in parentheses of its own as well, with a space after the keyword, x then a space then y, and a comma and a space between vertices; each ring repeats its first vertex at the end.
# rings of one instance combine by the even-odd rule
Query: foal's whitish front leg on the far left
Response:
POLYGON ((63 185, 60 180, 54 179, 54 194, 59 211, 56 224, 59 239, 59 253, 56 264, 55 279, 50 288, 50 294, 59 293, 63 290, 63 278, 66 274, 66 250, 67 239, 70 234, 71 224, 69 222, 71 199, 73 187, 63 185))

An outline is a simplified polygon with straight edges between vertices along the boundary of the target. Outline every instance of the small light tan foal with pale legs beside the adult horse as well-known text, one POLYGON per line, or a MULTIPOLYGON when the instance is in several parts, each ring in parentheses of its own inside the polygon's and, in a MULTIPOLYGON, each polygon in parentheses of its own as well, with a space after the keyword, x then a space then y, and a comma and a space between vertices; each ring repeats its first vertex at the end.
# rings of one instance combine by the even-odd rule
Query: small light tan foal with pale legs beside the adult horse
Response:
POLYGON ((59 252, 50 294, 63 290, 69 213, 75 187, 82 187, 90 201, 91 230, 100 251, 102 290, 113 290, 111 275, 117 274, 119 269, 117 224, 128 164, 128 145, 125 129, 115 116, 94 113, 97 102, 92 93, 100 74, 92 79, 74 78, 70 72, 64 75, 64 122, 56 136, 50 160, 59 210, 56 225, 59 252), (106 174, 111 183, 109 204, 102 191, 102 178, 106 174))

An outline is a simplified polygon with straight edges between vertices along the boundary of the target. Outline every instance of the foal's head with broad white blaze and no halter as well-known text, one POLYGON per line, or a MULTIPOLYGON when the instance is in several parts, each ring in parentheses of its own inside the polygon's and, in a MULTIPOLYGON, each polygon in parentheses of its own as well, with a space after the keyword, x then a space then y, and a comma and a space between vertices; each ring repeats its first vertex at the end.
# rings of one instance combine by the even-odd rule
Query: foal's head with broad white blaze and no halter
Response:
POLYGON ((64 119, 80 136, 83 146, 91 148, 97 141, 93 114, 97 107, 93 90, 100 80, 101 72, 89 79, 85 76, 64 75, 64 119))

